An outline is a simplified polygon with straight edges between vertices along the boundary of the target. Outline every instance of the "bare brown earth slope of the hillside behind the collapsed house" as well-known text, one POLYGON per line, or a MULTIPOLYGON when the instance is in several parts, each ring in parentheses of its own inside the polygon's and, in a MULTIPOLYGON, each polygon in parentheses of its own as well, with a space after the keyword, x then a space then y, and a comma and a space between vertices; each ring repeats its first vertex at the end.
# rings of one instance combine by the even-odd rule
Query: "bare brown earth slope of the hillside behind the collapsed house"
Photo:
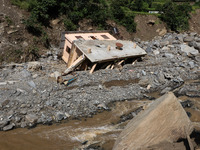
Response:
MULTIPOLYGON (((24 20, 30 16, 30 12, 12 5, 10 1, 0 0, 0 63, 24 62, 37 60, 46 51, 55 51, 59 48, 60 34, 66 30, 65 17, 52 18, 50 24, 43 27, 41 35, 33 35, 26 29, 24 20)), ((155 2, 158 3, 158 2, 155 2)), ((191 14, 190 31, 200 33, 199 10, 191 14)), ((157 16, 135 15, 136 32, 127 31, 125 26, 114 20, 106 21, 104 29, 111 33, 113 28, 119 30, 118 39, 150 40, 155 36, 164 35, 167 27, 157 16)), ((77 24, 77 30, 99 30, 91 19, 82 19, 77 24)))

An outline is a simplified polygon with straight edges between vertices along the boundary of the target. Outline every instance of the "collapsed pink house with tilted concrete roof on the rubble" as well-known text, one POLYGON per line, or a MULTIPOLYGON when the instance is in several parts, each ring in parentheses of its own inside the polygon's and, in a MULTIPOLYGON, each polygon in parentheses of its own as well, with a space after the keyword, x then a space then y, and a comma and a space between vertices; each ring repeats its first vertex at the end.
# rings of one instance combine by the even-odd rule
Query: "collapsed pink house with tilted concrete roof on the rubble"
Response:
POLYGON ((92 73, 97 64, 108 62, 106 68, 109 68, 109 62, 146 55, 136 43, 117 40, 107 31, 63 32, 60 48, 63 49, 62 59, 67 63, 65 74, 78 66, 92 73))

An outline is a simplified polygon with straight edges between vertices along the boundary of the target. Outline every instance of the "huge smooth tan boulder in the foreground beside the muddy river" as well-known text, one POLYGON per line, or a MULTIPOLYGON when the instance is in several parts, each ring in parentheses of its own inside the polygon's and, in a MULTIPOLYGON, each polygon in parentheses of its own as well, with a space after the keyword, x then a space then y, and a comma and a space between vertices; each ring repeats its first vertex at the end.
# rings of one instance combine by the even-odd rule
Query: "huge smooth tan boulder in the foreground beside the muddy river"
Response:
POLYGON ((164 141, 173 143, 188 138, 192 130, 191 121, 178 99, 168 93, 129 122, 113 150, 142 150, 164 141))

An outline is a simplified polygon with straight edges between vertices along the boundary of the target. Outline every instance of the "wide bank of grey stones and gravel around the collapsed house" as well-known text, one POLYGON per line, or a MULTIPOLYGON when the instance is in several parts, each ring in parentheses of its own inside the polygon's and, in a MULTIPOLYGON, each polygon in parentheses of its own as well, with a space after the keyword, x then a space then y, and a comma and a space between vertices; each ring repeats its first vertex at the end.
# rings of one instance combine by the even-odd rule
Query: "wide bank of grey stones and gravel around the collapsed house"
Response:
POLYGON ((68 86, 55 79, 66 69, 56 49, 37 62, 1 66, 0 129, 90 117, 98 109, 109 109, 111 102, 152 100, 151 92, 200 96, 200 35, 167 33, 152 41, 136 41, 147 52, 141 60, 93 74, 78 71, 77 80, 68 86))

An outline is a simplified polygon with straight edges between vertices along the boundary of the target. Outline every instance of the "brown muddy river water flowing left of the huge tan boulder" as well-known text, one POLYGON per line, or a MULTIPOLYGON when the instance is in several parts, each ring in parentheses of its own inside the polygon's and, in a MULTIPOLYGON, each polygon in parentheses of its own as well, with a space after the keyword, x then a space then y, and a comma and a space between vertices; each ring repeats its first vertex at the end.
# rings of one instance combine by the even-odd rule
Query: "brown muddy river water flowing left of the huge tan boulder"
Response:
POLYGON ((98 142, 109 150, 126 125, 118 123, 120 116, 148 103, 145 100, 117 102, 111 111, 104 111, 93 118, 0 132, 0 150, 71 150, 98 142))

